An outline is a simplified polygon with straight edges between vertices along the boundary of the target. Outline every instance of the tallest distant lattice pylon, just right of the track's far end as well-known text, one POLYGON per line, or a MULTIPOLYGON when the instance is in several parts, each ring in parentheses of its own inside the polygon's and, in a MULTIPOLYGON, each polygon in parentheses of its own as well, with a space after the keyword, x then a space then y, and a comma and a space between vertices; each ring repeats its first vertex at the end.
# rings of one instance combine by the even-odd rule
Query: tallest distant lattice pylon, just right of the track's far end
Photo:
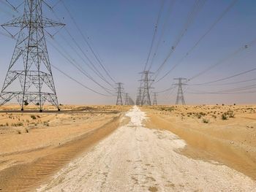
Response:
POLYGON ((150 82, 152 82, 153 80, 148 78, 148 74, 153 74, 152 72, 149 71, 144 71, 144 72, 140 72, 140 74, 143 74, 143 79, 141 80, 142 83, 142 95, 141 95, 141 101, 140 101, 140 105, 151 105, 151 100, 150 100, 150 93, 149 90, 151 89, 151 85, 150 82))

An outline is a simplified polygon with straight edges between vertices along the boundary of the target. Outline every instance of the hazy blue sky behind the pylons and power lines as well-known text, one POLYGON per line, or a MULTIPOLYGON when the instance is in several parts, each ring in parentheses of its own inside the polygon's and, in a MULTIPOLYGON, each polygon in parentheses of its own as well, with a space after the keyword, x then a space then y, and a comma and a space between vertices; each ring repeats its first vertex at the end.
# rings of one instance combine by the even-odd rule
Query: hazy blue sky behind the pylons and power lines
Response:
MULTIPOLYGON (((110 80, 99 65, 97 58, 105 66, 105 69, 107 69, 115 82, 124 83, 124 91, 129 93, 129 96, 135 100, 140 86, 141 74, 139 72, 144 70, 160 13, 157 33, 149 55, 148 65, 151 64, 152 57, 154 57, 151 72, 156 72, 159 69, 159 66, 167 58, 168 53, 172 51, 172 47, 176 46, 170 58, 167 59, 159 74, 157 74, 157 77, 155 74, 152 75, 151 79, 155 80, 152 84, 152 92, 161 92, 173 87, 173 84, 176 83, 173 78, 184 77, 191 79, 196 74, 203 72, 198 77, 189 80, 187 85, 184 85, 184 96, 187 104, 255 104, 256 88, 253 86, 256 85, 256 80, 252 79, 256 78, 256 71, 216 83, 195 84, 230 77, 233 74, 245 72, 256 67, 256 1, 238 0, 218 20, 225 9, 233 3, 233 0, 207 0, 204 4, 204 1, 201 0, 199 1, 202 3, 201 7, 199 6, 195 10, 194 16, 187 26, 189 12, 195 7, 196 1, 193 0, 63 1, 68 11, 65 9, 64 4, 57 0, 45 0, 50 6, 54 5, 53 12, 45 4, 43 6, 45 17, 66 25, 66 29, 49 29, 51 34, 57 33, 53 38, 48 35, 45 37, 47 39, 50 63, 83 85, 99 93, 109 95, 69 62, 70 60, 75 61, 75 64, 80 65, 96 82, 110 89, 113 96, 102 96, 89 91, 53 68, 53 79, 59 103, 116 103, 116 93, 113 91, 114 82, 110 80), (218 22, 214 25, 216 20, 218 22), (184 28, 186 29, 185 31, 184 28), (83 36, 79 30, 83 33, 83 36), (207 34, 206 31, 208 31, 207 34), (91 53, 83 37, 86 37, 97 58, 91 53), (197 43, 199 39, 201 40, 197 43), (252 42, 252 45, 249 44, 250 42, 252 42), (195 46, 196 43, 197 45, 195 46), (80 51, 77 45, 83 52, 80 51), (243 48, 246 45, 248 48, 243 48), (61 55, 55 47, 64 54, 61 55), (191 50, 192 47, 194 48, 191 50), (233 54, 236 50, 239 51, 233 54), (189 54, 187 55, 187 53, 189 54), (89 61, 84 54, 95 64, 112 86, 108 85, 89 69, 86 65, 89 64, 89 61), (69 61, 63 55, 66 55, 69 61), (181 58, 183 58, 182 61, 181 58), (173 66, 176 66, 176 68, 157 82, 157 79, 162 77, 173 66), (204 72, 211 66, 214 67, 204 72), (252 85, 252 88, 244 88, 250 85, 252 85), (225 91, 234 88, 239 88, 239 91, 224 94, 227 93, 225 91), (219 93, 220 91, 222 94, 219 93)), ((18 6, 21 2, 22 0, 10 0, 10 3, 15 6, 18 6)), ((18 12, 15 12, 8 6, 6 1, 0 0, 1 24, 7 23, 14 16, 22 15, 22 13, 23 5, 18 9, 18 12)), ((3 33, 6 34, 6 31, 1 28, 0 86, 4 83, 15 47, 15 39, 6 37, 3 33)), ((158 93, 158 103, 175 104, 176 95, 177 88, 158 93)))

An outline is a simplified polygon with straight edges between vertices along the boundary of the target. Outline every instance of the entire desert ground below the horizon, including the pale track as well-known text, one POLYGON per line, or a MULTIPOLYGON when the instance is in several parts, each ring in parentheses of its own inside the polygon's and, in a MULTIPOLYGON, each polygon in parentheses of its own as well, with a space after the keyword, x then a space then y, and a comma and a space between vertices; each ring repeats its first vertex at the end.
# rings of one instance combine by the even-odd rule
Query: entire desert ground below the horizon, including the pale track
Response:
POLYGON ((255 105, 10 110, 1 191, 256 191, 255 105))

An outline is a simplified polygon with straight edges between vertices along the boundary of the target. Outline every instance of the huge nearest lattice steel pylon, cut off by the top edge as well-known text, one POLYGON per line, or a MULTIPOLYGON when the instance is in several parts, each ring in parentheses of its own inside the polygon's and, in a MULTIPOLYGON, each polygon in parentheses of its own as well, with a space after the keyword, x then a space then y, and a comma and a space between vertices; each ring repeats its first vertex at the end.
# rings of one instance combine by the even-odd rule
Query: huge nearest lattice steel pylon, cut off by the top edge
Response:
MULTIPOLYGON (((45 28, 64 26, 42 14, 42 0, 25 0, 23 16, 1 25, 18 27, 15 50, 0 94, 0 105, 17 99, 21 110, 30 103, 42 107, 45 101, 59 110, 53 74, 45 42, 45 28)), ((47 32, 48 33, 48 32, 47 32)))

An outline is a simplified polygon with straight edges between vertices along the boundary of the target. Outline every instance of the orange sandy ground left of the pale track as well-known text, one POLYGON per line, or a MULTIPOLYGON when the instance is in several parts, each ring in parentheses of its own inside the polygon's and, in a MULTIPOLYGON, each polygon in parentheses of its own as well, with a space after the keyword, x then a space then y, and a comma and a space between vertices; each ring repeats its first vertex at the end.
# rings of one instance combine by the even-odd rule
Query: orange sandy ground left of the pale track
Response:
POLYGON ((63 108, 80 112, 0 113, 0 191, 34 191, 34 186, 118 128, 119 118, 130 107, 63 108))

